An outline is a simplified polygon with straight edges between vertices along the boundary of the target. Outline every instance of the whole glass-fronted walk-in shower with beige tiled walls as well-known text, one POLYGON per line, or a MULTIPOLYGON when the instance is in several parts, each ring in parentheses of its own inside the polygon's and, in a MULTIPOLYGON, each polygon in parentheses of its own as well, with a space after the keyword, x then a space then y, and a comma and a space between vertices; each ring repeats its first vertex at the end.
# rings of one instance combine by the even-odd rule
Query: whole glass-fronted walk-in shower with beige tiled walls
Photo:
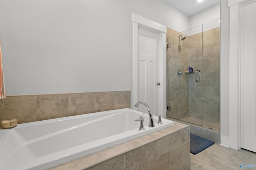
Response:
POLYGON ((168 29, 167 43, 166 117, 220 131, 220 19, 168 29))

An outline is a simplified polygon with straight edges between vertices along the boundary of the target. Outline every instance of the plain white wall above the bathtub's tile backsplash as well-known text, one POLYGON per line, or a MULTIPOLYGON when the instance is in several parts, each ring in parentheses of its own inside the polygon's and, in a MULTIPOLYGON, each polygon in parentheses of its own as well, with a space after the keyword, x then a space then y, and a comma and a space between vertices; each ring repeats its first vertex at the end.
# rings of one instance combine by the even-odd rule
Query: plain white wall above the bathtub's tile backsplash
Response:
POLYGON ((0 0, 6 94, 131 90, 132 13, 188 29, 160 0, 0 0))

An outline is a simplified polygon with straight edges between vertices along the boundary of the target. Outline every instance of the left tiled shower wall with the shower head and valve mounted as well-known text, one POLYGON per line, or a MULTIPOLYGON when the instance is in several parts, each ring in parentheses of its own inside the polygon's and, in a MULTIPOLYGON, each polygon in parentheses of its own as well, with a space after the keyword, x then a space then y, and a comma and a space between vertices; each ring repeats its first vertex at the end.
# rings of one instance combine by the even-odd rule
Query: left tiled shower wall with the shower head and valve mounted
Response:
POLYGON ((166 50, 166 106, 171 106, 171 111, 166 110, 166 117, 182 119, 189 116, 188 76, 179 77, 177 70, 188 70, 189 44, 188 37, 181 41, 178 35, 184 34, 168 28, 166 41, 171 47, 166 50))

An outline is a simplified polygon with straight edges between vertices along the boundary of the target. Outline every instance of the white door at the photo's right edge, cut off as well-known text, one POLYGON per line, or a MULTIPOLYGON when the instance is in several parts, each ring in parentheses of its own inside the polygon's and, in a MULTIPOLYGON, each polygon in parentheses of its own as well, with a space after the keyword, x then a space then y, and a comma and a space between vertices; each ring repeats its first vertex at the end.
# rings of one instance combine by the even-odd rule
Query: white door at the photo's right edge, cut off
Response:
POLYGON ((241 12, 241 147, 256 152, 256 2, 241 12))

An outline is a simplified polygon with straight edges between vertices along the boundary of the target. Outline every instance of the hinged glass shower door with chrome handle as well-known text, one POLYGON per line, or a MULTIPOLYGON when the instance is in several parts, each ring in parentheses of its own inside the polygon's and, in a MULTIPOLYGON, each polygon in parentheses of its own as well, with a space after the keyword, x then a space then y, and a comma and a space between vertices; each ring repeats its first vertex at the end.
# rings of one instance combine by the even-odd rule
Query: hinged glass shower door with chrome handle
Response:
POLYGON ((166 117, 202 126, 202 81, 196 82, 195 74, 202 70, 202 25, 167 37, 167 43, 166 106, 171 110, 166 117))

